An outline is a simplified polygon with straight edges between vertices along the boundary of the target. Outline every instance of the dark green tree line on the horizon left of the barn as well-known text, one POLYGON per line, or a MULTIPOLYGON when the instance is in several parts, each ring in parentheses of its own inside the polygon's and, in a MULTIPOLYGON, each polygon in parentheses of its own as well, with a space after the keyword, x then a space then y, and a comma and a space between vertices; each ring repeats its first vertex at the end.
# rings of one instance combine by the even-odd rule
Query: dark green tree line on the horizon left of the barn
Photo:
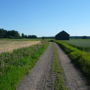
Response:
POLYGON ((5 29, 0 29, 0 38, 37 38, 36 35, 25 35, 20 33, 16 30, 5 30, 5 29))

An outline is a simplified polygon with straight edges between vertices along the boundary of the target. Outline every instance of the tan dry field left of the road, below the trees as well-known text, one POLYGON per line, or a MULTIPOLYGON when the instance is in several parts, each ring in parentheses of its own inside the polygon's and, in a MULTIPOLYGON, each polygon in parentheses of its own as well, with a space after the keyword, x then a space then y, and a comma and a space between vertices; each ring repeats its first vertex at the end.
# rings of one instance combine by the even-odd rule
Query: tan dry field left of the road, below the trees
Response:
POLYGON ((40 41, 30 40, 0 40, 0 53, 8 51, 11 52, 14 49, 28 47, 39 43, 40 41))

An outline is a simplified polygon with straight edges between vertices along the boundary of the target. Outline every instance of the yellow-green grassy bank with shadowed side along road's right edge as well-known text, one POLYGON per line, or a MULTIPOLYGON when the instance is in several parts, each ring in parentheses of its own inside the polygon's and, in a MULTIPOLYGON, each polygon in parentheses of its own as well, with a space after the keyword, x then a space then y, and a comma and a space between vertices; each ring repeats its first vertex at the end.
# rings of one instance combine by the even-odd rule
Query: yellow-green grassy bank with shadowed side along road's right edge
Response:
POLYGON ((82 71, 90 82, 90 53, 79 50, 62 41, 56 41, 56 43, 67 53, 75 66, 82 71))

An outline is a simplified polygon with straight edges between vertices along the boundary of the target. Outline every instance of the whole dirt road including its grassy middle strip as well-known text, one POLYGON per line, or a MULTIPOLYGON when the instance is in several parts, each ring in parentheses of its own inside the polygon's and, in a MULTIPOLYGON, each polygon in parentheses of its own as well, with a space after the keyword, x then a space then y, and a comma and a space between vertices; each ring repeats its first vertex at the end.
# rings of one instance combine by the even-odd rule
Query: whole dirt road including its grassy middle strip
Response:
POLYGON ((67 55, 51 43, 16 90, 89 90, 67 55))

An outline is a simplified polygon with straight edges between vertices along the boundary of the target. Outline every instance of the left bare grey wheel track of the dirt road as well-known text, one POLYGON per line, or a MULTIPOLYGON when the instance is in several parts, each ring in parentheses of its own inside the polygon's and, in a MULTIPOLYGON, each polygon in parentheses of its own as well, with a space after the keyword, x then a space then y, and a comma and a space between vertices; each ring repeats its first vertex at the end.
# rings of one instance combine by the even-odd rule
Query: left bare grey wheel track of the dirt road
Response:
POLYGON ((50 69, 53 49, 50 45, 32 71, 21 81, 17 90, 51 90, 50 69))

